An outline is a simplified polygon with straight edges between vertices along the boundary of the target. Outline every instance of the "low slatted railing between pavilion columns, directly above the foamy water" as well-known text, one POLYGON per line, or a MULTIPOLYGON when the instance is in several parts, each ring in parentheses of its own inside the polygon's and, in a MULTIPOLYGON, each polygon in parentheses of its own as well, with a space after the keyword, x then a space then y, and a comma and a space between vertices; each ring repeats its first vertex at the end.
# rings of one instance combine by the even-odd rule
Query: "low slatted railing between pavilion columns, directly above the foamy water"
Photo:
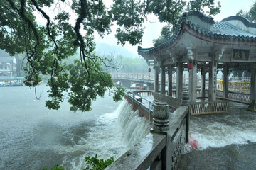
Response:
POLYGON ((190 105, 191 115, 210 113, 228 113, 228 101, 193 102, 190 105))

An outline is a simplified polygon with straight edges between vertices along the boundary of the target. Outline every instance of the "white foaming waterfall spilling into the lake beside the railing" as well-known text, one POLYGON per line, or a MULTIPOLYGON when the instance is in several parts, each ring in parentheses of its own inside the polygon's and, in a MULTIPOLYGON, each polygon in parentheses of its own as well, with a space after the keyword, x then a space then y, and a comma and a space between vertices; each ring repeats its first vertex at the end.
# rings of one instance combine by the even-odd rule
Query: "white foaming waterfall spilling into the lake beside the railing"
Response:
POLYGON ((68 169, 85 169, 85 157, 95 154, 100 159, 114 156, 116 160, 149 133, 149 120, 139 118, 138 115, 138 111, 132 111, 132 106, 126 100, 122 101, 113 113, 101 115, 96 126, 90 128, 87 137, 81 137, 74 147, 63 148, 70 154, 85 151, 85 154, 71 161, 65 159, 65 166, 68 164, 68 169))

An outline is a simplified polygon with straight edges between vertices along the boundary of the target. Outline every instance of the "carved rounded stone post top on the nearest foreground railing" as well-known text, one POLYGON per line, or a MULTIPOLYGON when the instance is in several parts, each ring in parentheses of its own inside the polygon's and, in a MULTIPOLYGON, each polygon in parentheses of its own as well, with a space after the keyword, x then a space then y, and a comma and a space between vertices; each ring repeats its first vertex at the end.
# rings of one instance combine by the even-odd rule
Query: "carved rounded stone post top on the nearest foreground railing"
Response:
POLYGON ((166 102, 154 102, 153 111, 153 130, 156 132, 164 132, 169 130, 169 112, 167 111, 168 104, 166 102))

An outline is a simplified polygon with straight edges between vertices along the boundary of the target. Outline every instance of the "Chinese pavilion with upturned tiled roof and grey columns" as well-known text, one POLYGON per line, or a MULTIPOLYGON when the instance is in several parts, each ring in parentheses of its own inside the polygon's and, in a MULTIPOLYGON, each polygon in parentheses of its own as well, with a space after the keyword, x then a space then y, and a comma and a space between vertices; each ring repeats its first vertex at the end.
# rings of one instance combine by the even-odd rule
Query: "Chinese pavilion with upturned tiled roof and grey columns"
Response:
POLYGON ((250 110, 256 110, 256 23, 241 16, 220 22, 198 11, 183 13, 178 32, 157 47, 138 47, 149 65, 154 65, 154 91, 165 96, 165 71, 168 70, 168 95, 172 91, 172 72, 176 70, 176 98, 181 99, 183 69, 189 72, 189 96, 196 102, 196 72, 201 71, 201 96, 206 96, 206 71, 209 73, 208 101, 216 101, 217 72, 223 70, 223 98, 228 98, 228 73, 234 69, 251 74, 250 110), (159 70, 161 86, 159 92, 159 70))

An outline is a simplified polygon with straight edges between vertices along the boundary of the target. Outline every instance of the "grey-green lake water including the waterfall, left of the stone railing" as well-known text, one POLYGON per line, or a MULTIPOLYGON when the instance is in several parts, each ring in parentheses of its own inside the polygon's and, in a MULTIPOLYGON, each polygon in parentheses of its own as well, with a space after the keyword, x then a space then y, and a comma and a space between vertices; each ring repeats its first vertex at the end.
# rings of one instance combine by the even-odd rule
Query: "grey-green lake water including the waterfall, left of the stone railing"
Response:
POLYGON ((127 101, 105 96, 87 113, 70 111, 66 102, 52 111, 45 108, 46 91, 38 86, 37 101, 34 89, 0 88, 0 169, 84 169, 85 157, 117 159, 149 132, 149 121, 127 101))

